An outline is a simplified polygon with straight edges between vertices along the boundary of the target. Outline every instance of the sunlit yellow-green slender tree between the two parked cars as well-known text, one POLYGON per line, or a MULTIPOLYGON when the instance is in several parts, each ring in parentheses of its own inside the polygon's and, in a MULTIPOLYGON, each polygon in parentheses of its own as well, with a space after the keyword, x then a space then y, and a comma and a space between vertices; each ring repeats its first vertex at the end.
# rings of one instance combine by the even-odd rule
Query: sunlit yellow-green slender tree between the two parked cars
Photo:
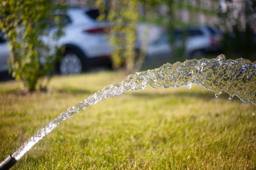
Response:
POLYGON ((139 71, 145 59, 145 43, 141 47, 136 46, 140 1, 111 0, 107 16, 102 6, 103 0, 98 0, 96 4, 102 9, 102 17, 99 20, 107 17, 112 25, 108 38, 115 48, 111 54, 113 67, 124 65, 127 74, 139 71))

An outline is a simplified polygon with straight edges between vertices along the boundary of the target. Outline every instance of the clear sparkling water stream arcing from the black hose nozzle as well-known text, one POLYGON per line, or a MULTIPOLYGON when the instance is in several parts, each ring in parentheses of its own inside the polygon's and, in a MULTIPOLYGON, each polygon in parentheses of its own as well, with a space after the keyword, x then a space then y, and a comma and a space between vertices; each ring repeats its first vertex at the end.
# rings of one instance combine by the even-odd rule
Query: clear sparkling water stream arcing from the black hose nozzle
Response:
POLYGON ((38 130, 12 154, 12 157, 16 160, 20 159, 34 144, 65 119, 109 96, 119 95, 128 90, 143 90, 146 85, 152 88, 179 88, 181 85, 186 85, 190 88, 193 83, 214 91, 216 97, 227 92, 230 94, 229 99, 238 96, 241 101, 256 105, 255 62, 247 59, 226 60, 224 55, 220 55, 216 59, 193 59, 176 62, 173 65, 167 63, 154 70, 131 74, 120 83, 107 85, 84 101, 67 109, 65 113, 61 113, 48 125, 38 130))

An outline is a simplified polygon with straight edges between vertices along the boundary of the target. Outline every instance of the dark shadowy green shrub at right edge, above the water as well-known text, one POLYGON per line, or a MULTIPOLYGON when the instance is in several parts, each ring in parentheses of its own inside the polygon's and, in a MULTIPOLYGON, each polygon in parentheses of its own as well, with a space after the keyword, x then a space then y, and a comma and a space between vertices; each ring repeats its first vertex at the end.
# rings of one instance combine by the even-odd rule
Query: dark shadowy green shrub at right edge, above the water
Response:
POLYGON ((256 2, 245 0, 241 3, 241 10, 227 6, 227 11, 220 13, 221 26, 225 30, 221 46, 228 57, 234 59, 239 55, 251 61, 255 60, 256 35, 253 31, 253 26, 256 24, 253 18, 253 14, 256 14, 255 7, 256 2))

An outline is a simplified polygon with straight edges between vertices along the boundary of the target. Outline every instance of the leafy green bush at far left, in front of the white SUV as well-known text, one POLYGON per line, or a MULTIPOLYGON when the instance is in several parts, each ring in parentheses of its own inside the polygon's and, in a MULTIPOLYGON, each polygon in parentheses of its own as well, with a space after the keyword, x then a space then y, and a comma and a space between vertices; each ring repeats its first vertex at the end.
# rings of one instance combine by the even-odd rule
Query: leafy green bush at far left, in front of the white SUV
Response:
POLYGON ((55 5, 52 0, 1 0, 0 28, 6 33, 11 50, 10 71, 29 91, 35 91, 39 80, 50 75, 58 59, 40 40, 49 36, 51 20, 58 27, 53 37, 58 39, 63 34, 60 17, 52 15, 57 7, 64 11, 63 3, 55 5))

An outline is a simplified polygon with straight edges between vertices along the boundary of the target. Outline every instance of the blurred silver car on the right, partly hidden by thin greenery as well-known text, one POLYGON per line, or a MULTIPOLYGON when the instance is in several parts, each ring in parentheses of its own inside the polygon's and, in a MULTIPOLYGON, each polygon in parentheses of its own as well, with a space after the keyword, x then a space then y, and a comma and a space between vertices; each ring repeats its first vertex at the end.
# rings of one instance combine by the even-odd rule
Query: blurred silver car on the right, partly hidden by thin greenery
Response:
MULTIPOLYGON (((185 56, 187 58, 203 57, 205 54, 215 53, 221 49, 222 34, 215 27, 196 26, 176 29, 174 38, 176 45, 181 45, 184 38, 185 56)), ((158 55, 170 56, 172 47, 169 43, 169 34, 163 31, 158 40, 151 43, 148 48, 150 53, 157 51, 157 53, 159 52, 158 55)))

